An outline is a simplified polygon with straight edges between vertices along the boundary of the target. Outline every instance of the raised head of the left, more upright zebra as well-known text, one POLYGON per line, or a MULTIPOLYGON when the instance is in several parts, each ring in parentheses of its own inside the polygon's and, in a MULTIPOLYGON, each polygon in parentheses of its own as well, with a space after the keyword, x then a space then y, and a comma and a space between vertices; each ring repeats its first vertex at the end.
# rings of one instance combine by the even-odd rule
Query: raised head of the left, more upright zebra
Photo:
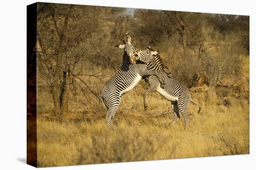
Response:
POLYGON ((132 64, 135 64, 136 62, 135 62, 135 58, 134 58, 134 55, 133 55, 133 54, 134 54, 134 51, 135 51, 136 49, 135 49, 135 47, 132 45, 132 38, 131 38, 131 36, 130 36, 128 33, 126 33, 125 35, 126 35, 127 40, 126 40, 126 41, 123 41, 123 44, 115 45, 115 46, 118 47, 118 48, 123 49, 124 52, 125 52, 125 55, 127 55, 127 56, 129 57, 130 62, 131 62, 132 64))

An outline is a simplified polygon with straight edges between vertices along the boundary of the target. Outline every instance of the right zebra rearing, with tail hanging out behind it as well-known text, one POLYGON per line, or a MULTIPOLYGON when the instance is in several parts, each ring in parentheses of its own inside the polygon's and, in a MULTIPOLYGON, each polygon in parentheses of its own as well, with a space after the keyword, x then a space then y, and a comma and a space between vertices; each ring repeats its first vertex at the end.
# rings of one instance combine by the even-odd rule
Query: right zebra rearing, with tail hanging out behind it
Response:
MULTIPOLYGON (((148 47, 148 50, 154 51, 150 47, 148 47)), ((143 94, 145 110, 148 108, 147 95, 153 91, 157 91, 167 100, 172 102, 174 120, 170 124, 173 125, 176 123, 177 120, 179 120, 180 118, 179 110, 180 110, 183 118, 185 119, 185 127, 189 126, 189 115, 187 114, 189 102, 191 101, 192 103, 199 106, 198 113, 200 113, 201 106, 191 99, 191 95, 187 86, 179 82, 177 79, 175 79, 175 77, 168 76, 168 73, 165 70, 165 67, 162 63, 162 59, 160 58, 160 56, 158 54, 157 55, 150 55, 150 54, 151 53, 148 53, 145 50, 135 50, 134 58, 136 62, 140 60, 144 63, 147 63, 148 69, 153 69, 159 72, 161 74, 161 78, 165 82, 165 88, 160 87, 159 80, 156 76, 154 75, 147 76, 146 81, 148 82, 149 87, 143 94)))

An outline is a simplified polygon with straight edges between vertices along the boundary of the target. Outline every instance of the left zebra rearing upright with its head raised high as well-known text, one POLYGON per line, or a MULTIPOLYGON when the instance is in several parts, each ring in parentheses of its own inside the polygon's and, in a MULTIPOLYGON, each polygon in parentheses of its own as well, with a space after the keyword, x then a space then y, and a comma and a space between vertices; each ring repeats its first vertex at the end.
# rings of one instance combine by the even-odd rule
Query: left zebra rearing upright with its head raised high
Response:
POLYGON ((154 70, 145 70, 147 68, 144 63, 144 68, 141 66, 140 69, 137 67, 138 63, 135 63, 135 59, 133 57, 134 50, 137 50, 131 44, 131 37, 127 33, 126 34, 127 41, 124 44, 121 44, 117 47, 124 50, 123 55, 123 63, 121 68, 115 73, 115 75, 110 78, 104 85, 101 92, 101 99, 103 104, 105 105, 108 112, 105 115, 105 119, 108 123, 108 126, 113 129, 113 119, 115 117, 115 113, 121 101, 121 96, 131 89, 135 87, 135 85, 141 80, 142 76, 146 75, 155 75, 155 77, 159 76, 159 82, 162 84, 162 88, 164 88, 164 82, 160 77, 160 73, 154 70))

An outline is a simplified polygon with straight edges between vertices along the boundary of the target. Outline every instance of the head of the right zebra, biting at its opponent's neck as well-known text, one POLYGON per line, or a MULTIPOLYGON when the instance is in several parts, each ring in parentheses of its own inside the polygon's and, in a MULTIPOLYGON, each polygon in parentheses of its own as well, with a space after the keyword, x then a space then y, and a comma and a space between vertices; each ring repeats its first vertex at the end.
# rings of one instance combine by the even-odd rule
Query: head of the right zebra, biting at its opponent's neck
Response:
POLYGON ((149 48, 147 48, 147 50, 135 50, 134 51, 134 58, 135 58, 135 60, 139 60, 139 61, 147 63, 147 64, 151 60, 153 60, 154 57, 156 55, 158 55, 158 51, 155 51, 155 50, 153 50, 151 48, 149 49, 149 48))

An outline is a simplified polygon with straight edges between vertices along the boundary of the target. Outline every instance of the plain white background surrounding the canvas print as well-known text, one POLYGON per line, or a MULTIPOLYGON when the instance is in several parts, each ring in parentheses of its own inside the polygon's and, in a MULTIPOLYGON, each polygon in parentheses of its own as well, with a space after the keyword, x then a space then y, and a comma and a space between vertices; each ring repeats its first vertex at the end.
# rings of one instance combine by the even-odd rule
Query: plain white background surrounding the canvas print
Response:
MULTIPOLYGON (((256 13, 253 0, 44 0, 96 6, 250 15, 250 87, 256 87, 256 13)), ((30 170, 26 161, 26 6, 34 0, 0 4, 0 169, 30 170)), ((254 169, 256 160, 256 90, 250 88, 250 154, 134 163, 81 165, 53 170, 254 169), (254 161, 253 161, 254 160, 254 161)), ((239 114, 239 113, 237 113, 239 114)))

